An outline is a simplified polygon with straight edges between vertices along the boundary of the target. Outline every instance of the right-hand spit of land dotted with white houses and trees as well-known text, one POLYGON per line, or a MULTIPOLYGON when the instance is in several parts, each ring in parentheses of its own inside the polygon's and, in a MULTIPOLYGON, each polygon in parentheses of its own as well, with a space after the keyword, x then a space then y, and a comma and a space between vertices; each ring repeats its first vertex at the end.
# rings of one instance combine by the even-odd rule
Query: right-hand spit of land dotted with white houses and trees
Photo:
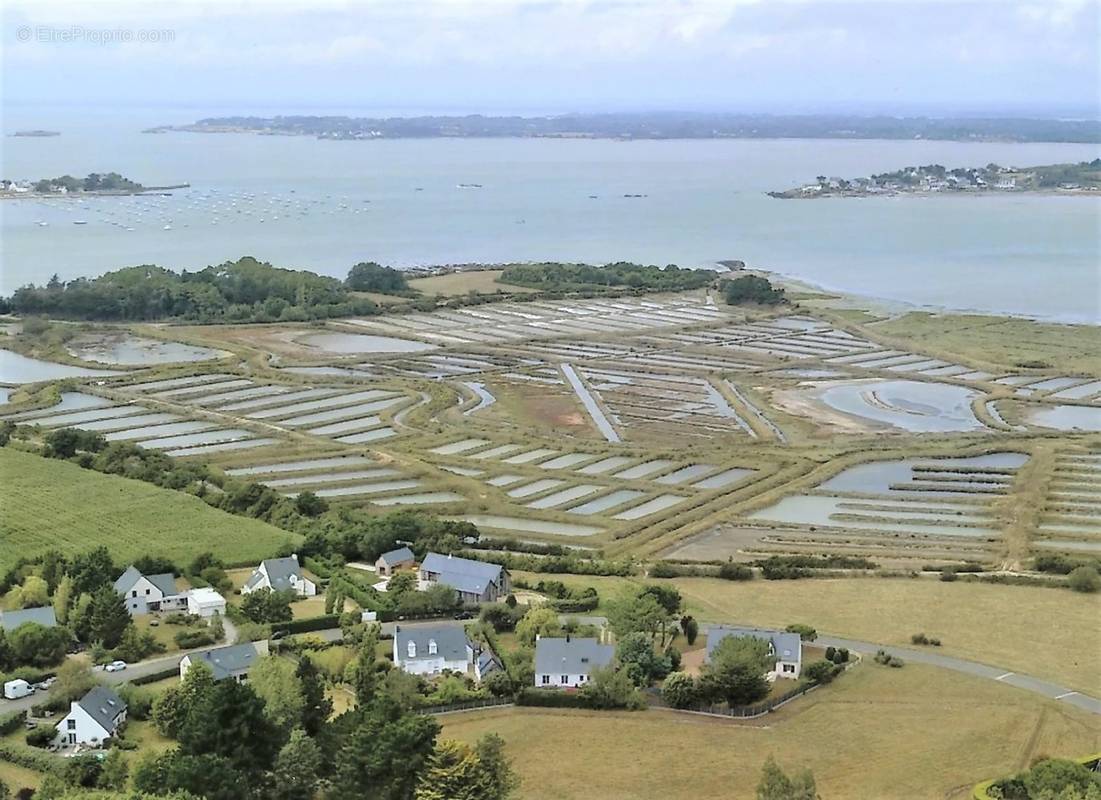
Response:
POLYGON ((811 184, 786 191, 770 191, 780 199, 816 197, 873 197, 879 195, 989 194, 1043 191, 1092 194, 1101 191, 1101 158, 1078 164, 1012 167, 988 164, 948 169, 940 164, 907 166, 861 178, 819 175, 811 184))

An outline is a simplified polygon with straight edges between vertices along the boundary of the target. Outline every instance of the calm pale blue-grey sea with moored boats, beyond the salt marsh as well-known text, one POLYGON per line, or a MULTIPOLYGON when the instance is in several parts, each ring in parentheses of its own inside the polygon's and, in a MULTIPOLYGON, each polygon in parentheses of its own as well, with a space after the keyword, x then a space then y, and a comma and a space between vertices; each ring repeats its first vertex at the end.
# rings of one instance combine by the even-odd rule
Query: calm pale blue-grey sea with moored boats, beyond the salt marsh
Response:
MULTIPOLYGON (((1101 197, 781 200, 818 175, 1087 161, 1086 144, 844 140, 326 141, 143 133, 195 109, 6 109, 6 180, 118 172, 164 196, 0 202, 0 293, 137 264, 253 255, 342 277, 517 261, 744 261, 933 309, 1101 324, 1101 197), (61 131, 15 138, 15 130, 61 131)), ((367 112, 364 112, 367 113, 367 112)))

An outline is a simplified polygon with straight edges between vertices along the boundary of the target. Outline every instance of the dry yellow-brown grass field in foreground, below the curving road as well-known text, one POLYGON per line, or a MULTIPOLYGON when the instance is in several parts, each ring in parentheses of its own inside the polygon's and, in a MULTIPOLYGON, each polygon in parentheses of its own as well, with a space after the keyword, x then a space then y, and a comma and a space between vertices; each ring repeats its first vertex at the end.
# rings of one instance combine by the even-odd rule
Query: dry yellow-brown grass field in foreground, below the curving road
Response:
POLYGON ((967 798, 1035 755, 1093 753, 1101 736, 1098 717, 1011 687, 871 664, 750 723, 552 709, 440 722, 443 738, 500 734, 525 800, 752 798, 768 755, 810 768, 824 798, 967 798))

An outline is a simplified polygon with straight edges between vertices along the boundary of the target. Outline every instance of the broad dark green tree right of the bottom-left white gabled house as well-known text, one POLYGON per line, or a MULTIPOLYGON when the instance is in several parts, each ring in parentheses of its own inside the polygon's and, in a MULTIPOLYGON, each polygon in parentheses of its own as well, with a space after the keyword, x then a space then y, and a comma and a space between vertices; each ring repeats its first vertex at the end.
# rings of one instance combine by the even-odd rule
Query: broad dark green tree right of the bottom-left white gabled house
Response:
MULTIPOLYGON (((189 671, 189 670, 188 670, 189 671)), ((187 710, 176 738, 188 756, 221 756, 244 772, 271 767, 283 741, 246 683, 224 680, 187 710)))

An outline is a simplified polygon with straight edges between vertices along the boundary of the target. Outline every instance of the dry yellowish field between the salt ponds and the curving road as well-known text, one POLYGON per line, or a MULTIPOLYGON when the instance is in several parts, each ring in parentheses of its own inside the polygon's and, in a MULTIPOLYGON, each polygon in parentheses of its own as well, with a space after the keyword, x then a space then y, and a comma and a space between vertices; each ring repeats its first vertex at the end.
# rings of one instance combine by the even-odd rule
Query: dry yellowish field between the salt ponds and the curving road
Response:
MULTIPOLYGON (((601 605, 626 579, 531 576, 593 585, 601 605)), ((1101 596, 1061 589, 956 581, 850 578, 732 582, 679 578, 685 602, 700 620, 765 626, 805 623, 819 631, 886 645, 912 634, 939 638, 937 653, 1005 667, 1101 694, 1101 596)), ((600 613, 599 611, 597 613, 600 613)))

